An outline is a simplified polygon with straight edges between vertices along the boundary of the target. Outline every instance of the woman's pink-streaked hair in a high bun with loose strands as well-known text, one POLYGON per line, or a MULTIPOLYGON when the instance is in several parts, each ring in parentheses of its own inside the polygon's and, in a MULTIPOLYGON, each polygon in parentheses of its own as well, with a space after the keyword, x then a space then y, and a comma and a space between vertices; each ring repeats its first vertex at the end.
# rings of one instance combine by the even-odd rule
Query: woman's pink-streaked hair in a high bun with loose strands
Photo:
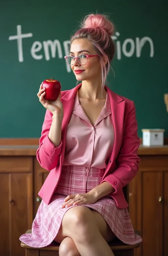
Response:
POLYGON ((103 88, 110 70, 110 63, 115 54, 115 44, 111 38, 115 30, 114 24, 106 15, 89 14, 83 19, 80 27, 71 37, 71 43, 79 38, 92 41, 93 47, 100 58, 101 86, 103 88), (103 57, 107 60, 106 64, 103 57))

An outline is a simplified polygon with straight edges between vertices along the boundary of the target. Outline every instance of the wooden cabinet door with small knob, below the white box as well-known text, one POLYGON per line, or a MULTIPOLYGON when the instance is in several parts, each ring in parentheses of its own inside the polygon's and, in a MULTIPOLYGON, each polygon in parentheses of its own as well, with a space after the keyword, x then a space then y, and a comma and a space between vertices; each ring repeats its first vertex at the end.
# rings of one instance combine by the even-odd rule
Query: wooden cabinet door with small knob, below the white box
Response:
POLYGON ((160 203, 162 172, 141 172, 141 228, 143 235, 143 256, 161 254, 162 204, 160 203))

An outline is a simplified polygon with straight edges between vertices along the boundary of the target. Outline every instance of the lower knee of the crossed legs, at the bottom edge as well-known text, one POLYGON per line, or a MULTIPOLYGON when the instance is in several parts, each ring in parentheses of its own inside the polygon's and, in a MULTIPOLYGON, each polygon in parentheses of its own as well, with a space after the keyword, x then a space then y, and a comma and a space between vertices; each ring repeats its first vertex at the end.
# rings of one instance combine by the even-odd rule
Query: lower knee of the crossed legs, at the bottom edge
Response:
POLYGON ((80 256, 74 241, 70 237, 64 238, 59 246, 59 256, 80 256))

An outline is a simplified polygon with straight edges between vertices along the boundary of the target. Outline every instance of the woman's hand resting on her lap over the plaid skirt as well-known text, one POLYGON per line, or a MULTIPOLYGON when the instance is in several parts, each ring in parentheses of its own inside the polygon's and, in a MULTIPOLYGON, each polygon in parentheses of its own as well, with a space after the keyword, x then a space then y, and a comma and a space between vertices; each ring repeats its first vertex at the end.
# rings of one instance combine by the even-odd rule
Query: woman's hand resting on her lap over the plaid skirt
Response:
POLYGON ((76 204, 92 204, 97 201, 94 193, 88 192, 86 194, 69 195, 64 199, 64 204, 61 208, 68 208, 76 204))

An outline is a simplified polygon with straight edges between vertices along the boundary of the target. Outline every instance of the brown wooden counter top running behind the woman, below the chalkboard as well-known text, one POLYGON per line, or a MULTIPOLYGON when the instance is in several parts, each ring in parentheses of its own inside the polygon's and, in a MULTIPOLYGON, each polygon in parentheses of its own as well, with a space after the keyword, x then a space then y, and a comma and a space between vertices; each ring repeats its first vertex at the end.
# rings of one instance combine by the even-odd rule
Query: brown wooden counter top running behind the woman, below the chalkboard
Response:
MULTIPOLYGON (((0 156, 35 156, 38 145, 0 145, 0 156)), ((168 155, 168 145, 145 147, 140 145, 138 155, 168 155)))

